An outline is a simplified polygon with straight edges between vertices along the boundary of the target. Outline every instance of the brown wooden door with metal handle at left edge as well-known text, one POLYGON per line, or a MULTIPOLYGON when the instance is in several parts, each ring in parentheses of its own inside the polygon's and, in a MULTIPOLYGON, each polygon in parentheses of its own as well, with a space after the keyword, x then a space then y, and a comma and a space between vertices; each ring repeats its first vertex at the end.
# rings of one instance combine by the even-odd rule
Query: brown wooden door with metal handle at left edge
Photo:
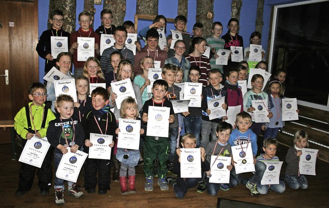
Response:
MULTIPOLYGON (((38 1, 0 0, 0 120, 13 120, 28 99, 28 86, 39 81, 38 1)), ((0 129, 0 143, 10 143, 10 132, 0 129)))

